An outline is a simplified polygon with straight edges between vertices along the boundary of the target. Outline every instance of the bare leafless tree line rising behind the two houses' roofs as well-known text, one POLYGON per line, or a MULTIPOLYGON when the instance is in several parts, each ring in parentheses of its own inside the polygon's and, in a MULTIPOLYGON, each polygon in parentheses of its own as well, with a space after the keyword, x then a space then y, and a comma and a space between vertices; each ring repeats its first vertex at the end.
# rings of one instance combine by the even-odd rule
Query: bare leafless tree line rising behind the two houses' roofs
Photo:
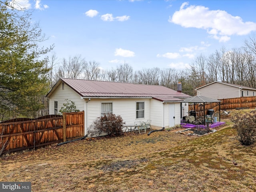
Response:
POLYGON ((143 68, 134 71, 125 63, 116 68, 104 70, 96 61, 87 62, 81 55, 57 59, 56 53, 48 58, 48 80, 53 86, 59 78, 79 78, 85 80, 103 80, 129 82, 136 84, 162 85, 176 90, 182 83, 184 93, 195 95, 195 88, 214 81, 238 84, 256 88, 256 39, 252 36, 245 40, 241 48, 216 50, 209 56, 200 54, 191 61, 186 69, 143 68))

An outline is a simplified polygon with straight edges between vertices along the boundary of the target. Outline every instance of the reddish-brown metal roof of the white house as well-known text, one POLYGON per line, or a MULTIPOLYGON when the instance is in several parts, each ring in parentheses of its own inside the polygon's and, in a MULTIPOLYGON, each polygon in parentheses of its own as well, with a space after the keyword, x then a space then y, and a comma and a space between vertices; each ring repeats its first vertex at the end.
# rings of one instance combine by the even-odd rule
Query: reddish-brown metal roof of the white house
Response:
POLYGON ((187 94, 158 85, 132 84, 123 82, 107 82, 82 79, 60 78, 52 92, 64 82, 83 98, 154 98, 164 102, 183 101, 182 98, 190 97, 187 94))

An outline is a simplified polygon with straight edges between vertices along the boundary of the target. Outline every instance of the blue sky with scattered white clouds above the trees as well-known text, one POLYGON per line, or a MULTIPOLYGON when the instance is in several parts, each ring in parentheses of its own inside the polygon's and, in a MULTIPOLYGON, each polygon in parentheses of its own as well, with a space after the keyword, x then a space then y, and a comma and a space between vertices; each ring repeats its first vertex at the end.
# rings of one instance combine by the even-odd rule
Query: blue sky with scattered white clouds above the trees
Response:
POLYGON ((58 59, 81 55, 103 69, 127 63, 184 69, 204 54, 239 48, 256 32, 256 1, 16 0, 54 44, 58 59))

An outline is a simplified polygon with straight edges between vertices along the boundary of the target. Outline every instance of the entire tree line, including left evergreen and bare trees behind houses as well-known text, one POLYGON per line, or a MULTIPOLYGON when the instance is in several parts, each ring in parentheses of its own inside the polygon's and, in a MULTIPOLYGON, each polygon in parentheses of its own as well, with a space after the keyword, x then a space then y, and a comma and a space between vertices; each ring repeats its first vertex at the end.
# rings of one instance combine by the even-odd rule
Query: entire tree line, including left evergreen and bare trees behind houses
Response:
POLYGON ((221 81, 256 88, 256 37, 252 35, 241 48, 216 50, 199 55, 190 67, 143 68, 134 70, 128 63, 103 70, 100 63, 86 61, 81 55, 58 59, 32 12, 17 10, 8 0, 0 0, 0 121, 13 117, 35 117, 46 108, 46 94, 59 78, 80 78, 112 82, 162 85, 193 96, 194 89, 221 81), (50 56, 47 56, 50 55, 50 56))

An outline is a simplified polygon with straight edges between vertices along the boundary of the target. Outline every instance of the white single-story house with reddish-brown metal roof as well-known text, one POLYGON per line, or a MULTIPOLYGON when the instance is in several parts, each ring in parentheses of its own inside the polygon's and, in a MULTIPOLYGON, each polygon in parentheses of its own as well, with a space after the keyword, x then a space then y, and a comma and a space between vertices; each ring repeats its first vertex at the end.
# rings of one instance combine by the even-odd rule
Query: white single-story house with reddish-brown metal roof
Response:
POLYGON ((164 86, 69 78, 60 78, 46 96, 49 114, 59 114, 66 99, 74 102, 76 109, 84 110, 85 134, 108 112, 120 115, 125 124, 151 120, 152 129, 173 127, 188 114, 188 104, 182 102, 190 97, 164 86))

